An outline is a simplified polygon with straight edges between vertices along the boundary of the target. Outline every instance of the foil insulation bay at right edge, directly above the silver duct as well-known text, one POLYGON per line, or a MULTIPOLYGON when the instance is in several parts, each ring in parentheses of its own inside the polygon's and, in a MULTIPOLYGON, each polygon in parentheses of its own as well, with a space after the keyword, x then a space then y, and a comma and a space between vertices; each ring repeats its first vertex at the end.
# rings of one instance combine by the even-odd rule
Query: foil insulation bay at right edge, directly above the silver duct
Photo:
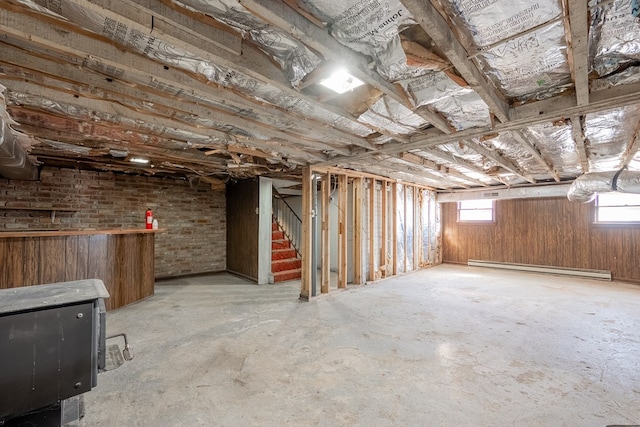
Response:
POLYGON ((584 134, 592 172, 618 169, 640 117, 640 105, 629 105, 586 115, 584 134))

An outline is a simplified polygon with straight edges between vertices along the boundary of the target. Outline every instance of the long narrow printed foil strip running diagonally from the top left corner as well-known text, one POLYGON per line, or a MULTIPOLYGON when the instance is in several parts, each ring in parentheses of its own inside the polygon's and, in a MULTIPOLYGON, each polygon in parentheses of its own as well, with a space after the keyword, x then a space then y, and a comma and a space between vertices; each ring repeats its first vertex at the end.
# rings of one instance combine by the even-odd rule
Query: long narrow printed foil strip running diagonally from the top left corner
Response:
MULTIPOLYGON (((18 1, 27 7, 39 10, 40 6, 30 0, 18 1)), ((347 119, 239 71, 198 58, 190 52, 128 27, 123 22, 116 22, 90 11, 69 0, 55 2, 49 0, 46 6, 56 14, 94 33, 101 34, 119 45, 126 46, 163 64, 204 76, 207 80, 220 86, 250 94, 258 100, 289 110, 301 117, 317 120, 357 136, 364 137, 372 133, 371 129, 355 120, 347 119)))

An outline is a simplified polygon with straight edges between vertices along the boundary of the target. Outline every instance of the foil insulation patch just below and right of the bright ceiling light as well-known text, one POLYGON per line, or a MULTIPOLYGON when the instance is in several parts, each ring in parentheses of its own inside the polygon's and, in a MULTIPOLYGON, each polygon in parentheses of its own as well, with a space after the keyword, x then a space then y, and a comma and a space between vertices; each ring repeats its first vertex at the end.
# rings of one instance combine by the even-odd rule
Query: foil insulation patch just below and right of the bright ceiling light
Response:
POLYGON ((429 123, 388 96, 380 98, 358 120, 395 135, 410 135, 429 123))

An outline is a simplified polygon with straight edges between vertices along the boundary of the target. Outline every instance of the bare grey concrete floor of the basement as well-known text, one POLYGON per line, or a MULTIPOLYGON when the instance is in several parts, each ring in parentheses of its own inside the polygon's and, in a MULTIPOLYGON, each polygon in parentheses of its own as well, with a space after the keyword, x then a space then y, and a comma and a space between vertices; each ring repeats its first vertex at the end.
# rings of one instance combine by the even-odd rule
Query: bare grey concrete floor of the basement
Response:
POLYGON ((110 312, 136 356, 83 425, 640 424, 639 286, 442 265, 298 294, 220 274, 110 312))

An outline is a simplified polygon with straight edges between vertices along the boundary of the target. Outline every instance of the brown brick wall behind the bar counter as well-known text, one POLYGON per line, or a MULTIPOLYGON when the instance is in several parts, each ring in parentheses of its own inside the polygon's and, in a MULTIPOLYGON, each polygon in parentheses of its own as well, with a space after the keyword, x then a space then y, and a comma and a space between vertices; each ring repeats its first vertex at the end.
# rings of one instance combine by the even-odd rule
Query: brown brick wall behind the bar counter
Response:
POLYGON ((0 178, 0 231, 144 228, 147 207, 166 229, 156 235, 156 277, 226 268, 225 193, 209 185, 57 168, 43 168, 40 181, 0 178), (3 207, 73 211, 52 223, 50 211, 3 207))

